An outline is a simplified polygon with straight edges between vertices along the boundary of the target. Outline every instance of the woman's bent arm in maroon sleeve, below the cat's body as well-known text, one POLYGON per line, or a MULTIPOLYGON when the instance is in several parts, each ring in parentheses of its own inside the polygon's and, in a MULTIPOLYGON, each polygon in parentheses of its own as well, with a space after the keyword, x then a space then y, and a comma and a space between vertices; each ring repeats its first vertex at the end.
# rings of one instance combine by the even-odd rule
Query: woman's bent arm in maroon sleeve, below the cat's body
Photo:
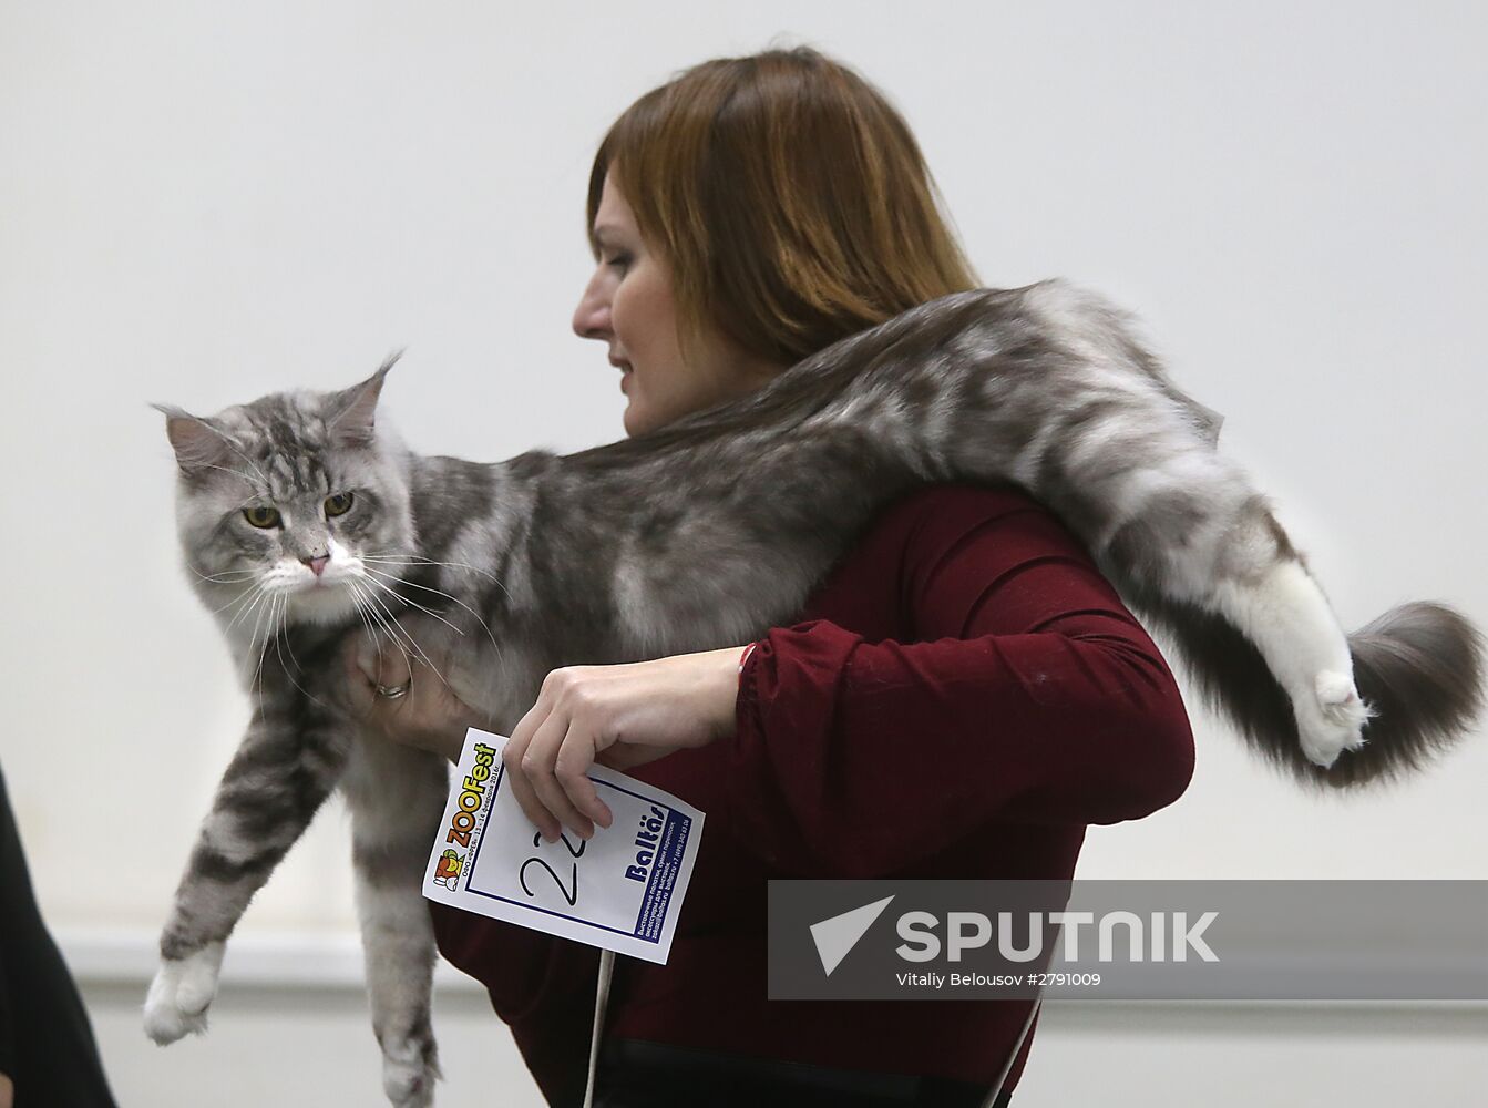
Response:
POLYGON ((1079 540, 1012 489, 917 509, 900 584, 929 641, 815 620, 748 659, 728 741, 741 839, 875 876, 988 821, 1109 824, 1176 800, 1193 770, 1181 696, 1079 540))

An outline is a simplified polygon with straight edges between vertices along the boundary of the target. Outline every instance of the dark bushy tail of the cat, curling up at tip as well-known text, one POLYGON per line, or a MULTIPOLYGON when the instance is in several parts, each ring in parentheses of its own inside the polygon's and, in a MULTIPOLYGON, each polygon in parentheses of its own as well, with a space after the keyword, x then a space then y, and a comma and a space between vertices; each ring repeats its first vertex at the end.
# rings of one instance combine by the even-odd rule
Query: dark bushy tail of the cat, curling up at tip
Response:
POLYGON ((1134 607, 1170 632, 1205 702, 1262 757, 1308 785, 1403 778, 1454 745, 1484 708, 1482 634, 1445 604, 1402 604, 1348 637, 1354 684, 1375 715, 1364 724, 1364 745, 1323 769, 1302 754, 1281 684, 1229 620, 1150 595, 1134 607))

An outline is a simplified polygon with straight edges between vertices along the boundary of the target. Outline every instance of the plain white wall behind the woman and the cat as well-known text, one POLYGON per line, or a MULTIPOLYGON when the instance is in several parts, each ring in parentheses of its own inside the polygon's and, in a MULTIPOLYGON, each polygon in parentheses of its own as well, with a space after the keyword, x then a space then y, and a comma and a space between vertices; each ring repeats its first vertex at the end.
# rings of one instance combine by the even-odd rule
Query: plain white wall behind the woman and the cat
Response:
MULTIPOLYGON (((618 437, 615 373, 568 332, 594 147, 674 70, 777 36, 902 107, 987 284, 1065 275, 1141 315, 1228 416, 1225 449, 1275 494, 1345 625, 1437 598, 1488 626, 1478 3, 0 0, 0 760, 126 1104, 199 1104, 205 1071, 222 1108, 375 1095, 360 1002, 304 999, 341 996, 335 974, 287 974, 292 1002, 244 986, 237 1014, 226 993, 211 1047, 147 1050, 129 1011, 246 718, 176 565, 146 403, 339 387, 406 345, 385 403, 420 449, 618 437), (321 1050, 339 1043, 321 1017, 360 1053, 321 1050)), ((1318 800, 1198 709, 1195 726, 1189 793, 1094 828, 1082 876, 1488 876, 1484 733, 1405 787, 1318 800)), ((314 962, 344 941, 341 824, 321 816, 275 875, 244 950, 314 962)), ((231 956, 228 973, 231 989, 231 956)), ((446 1056, 496 1050, 500 1101, 536 1104, 504 1029, 454 995, 446 1056)), ((1406 1062, 1423 1050, 1427 1099, 1488 1080, 1482 1010, 1367 1028, 1059 1011, 1028 1108, 1079 1102, 1092 1068, 1112 1104, 1254 1104, 1235 1074, 1277 1066, 1269 1102, 1382 1105, 1424 1080, 1406 1062), (1257 1053, 1257 1035, 1289 1046, 1257 1053)), ((494 1102, 475 1068, 451 1071, 446 1104, 494 1102)))

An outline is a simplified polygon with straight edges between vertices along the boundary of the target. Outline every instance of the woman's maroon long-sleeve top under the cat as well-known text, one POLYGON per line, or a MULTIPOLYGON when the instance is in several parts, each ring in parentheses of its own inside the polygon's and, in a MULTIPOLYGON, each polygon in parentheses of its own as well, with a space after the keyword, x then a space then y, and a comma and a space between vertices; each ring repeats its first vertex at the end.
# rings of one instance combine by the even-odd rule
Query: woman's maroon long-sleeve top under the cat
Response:
MULTIPOLYGON (((1082 543, 1012 486, 899 501, 801 620, 750 654, 732 739, 631 770, 707 827, 671 958, 616 961, 606 1035, 990 1084, 1028 1001, 769 1001, 766 882, 1071 877, 1086 824, 1187 787, 1173 674, 1082 543)), ((548 1099, 577 1104, 598 952, 432 910, 548 1099)))

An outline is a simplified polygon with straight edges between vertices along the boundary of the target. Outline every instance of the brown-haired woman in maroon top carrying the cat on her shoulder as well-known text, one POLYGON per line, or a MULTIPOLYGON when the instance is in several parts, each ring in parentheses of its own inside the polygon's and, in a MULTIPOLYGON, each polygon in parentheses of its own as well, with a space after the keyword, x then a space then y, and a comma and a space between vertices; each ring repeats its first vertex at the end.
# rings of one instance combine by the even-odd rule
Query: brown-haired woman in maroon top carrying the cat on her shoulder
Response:
MULTIPOLYGON (((710 61, 643 97, 600 147, 588 208, 598 268, 574 330, 607 347, 631 436, 976 286, 905 122, 808 49, 710 61)), ((400 662, 362 657, 372 717, 455 754, 476 717, 439 681, 371 696, 408 681, 400 662)), ((1086 824, 1171 803, 1192 758, 1156 647, 1010 486, 902 500, 798 625, 754 644, 555 671, 506 748, 549 839, 609 822, 595 760, 708 816, 670 962, 618 962, 598 1084, 615 1108, 979 1105, 1028 1002, 768 1001, 766 882, 1070 877, 1086 824)), ((598 952, 433 912, 549 1101, 577 1104, 598 952)))

